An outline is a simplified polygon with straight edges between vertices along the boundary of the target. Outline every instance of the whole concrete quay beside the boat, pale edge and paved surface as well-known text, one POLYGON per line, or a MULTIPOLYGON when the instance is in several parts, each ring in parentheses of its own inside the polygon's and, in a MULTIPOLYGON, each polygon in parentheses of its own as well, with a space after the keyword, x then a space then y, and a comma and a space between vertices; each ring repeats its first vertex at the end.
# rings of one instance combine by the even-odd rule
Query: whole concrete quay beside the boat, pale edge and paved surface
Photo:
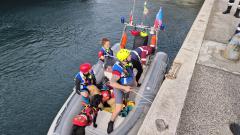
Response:
POLYGON ((138 135, 231 135, 240 122, 240 62, 221 50, 239 19, 227 0, 205 0, 138 135))

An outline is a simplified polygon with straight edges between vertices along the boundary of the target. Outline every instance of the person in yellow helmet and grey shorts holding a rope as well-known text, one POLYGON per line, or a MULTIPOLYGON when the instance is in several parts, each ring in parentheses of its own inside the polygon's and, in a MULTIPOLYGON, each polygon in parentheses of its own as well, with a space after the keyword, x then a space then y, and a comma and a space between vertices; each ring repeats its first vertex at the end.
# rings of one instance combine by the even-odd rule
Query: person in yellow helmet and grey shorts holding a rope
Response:
POLYGON ((132 91, 132 87, 136 84, 133 67, 131 64, 131 54, 127 49, 121 49, 117 52, 116 63, 112 67, 112 78, 110 85, 114 88, 115 109, 112 113, 111 119, 108 123, 107 133, 113 131, 114 121, 123 107, 123 97, 125 92, 132 91))

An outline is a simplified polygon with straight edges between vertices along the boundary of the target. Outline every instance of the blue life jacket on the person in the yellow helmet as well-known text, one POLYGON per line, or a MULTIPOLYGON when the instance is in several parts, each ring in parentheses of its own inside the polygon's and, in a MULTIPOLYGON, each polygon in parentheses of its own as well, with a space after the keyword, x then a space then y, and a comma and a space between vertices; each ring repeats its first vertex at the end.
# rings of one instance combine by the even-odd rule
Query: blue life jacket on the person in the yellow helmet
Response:
POLYGON ((118 80, 118 83, 121 85, 128 85, 133 83, 134 80, 134 74, 133 74, 133 67, 128 66, 125 67, 123 66, 119 61, 117 61, 112 68, 113 72, 117 71, 119 72, 120 75, 120 79, 118 80))

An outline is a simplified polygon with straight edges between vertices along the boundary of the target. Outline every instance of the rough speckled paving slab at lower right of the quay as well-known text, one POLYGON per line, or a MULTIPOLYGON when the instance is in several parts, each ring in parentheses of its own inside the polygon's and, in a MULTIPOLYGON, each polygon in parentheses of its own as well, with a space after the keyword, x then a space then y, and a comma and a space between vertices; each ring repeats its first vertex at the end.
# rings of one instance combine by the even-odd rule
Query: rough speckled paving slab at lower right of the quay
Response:
POLYGON ((181 114, 178 135, 231 135, 240 117, 240 76, 197 64, 181 114))

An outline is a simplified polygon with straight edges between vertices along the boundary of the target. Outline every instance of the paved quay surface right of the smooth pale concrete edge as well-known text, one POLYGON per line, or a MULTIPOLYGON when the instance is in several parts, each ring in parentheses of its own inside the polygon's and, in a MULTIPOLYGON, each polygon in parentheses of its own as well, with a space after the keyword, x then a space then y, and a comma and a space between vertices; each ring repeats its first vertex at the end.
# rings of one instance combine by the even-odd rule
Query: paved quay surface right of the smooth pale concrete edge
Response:
POLYGON ((221 57, 239 19, 223 15, 225 0, 215 1, 187 93, 178 135, 231 135, 229 124, 240 121, 240 62, 221 57))

